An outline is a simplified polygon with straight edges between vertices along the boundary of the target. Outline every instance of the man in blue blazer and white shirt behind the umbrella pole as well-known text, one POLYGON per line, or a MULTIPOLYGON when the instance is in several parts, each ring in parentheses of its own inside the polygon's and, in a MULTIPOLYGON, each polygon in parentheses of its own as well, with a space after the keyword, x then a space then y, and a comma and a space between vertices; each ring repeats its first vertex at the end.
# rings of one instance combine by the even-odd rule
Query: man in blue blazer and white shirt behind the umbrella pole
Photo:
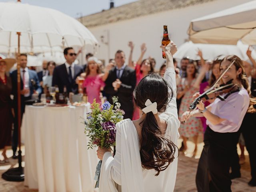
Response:
MULTIPOLYGON (((12 135, 12 158, 18 158, 16 150, 18 146, 18 91, 17 91, 17 70, 11 74, 12 78, 12 94, 14 95, 14 131, 12 135)), ((20 54, 20 94, 21 94, 21 120, 25 112, 25 102, 32 98, 32 94, 41 93, 40 82, 35 71, 27 68, 27 55, 20 54)))

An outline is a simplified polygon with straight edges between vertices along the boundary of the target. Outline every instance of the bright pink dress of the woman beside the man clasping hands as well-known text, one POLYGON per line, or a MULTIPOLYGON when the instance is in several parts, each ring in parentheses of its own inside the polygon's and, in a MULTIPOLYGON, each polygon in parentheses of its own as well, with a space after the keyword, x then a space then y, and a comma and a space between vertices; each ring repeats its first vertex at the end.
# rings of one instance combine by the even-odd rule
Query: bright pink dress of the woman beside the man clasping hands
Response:
POLYGON ((85 78, 83 87, 86 87, 86 93, 88 96, 89 103, 92 104, 94 99, 96 99, 97 103, 101 103, 100 88, 104 86, 105 86, 105 83, 99 75, 88 76, 85 78))

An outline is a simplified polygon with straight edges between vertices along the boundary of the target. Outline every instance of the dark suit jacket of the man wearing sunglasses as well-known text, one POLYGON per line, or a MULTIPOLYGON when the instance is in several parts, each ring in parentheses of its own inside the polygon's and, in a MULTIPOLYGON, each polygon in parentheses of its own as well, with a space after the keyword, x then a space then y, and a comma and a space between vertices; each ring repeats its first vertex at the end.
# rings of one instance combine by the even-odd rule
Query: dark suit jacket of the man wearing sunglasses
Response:
POLYGON ((79 65, 74 66, 74 77, 70 82, 68 79, 68 72, 65 64, 61 64, 54 68, 52 76, 52 86, 57 85, 60 93, 63 92, 64 86, 67 88, 67 92, 78 93, 78 85, 76 84, 76 78, 83 72, 83 68, 79 65))

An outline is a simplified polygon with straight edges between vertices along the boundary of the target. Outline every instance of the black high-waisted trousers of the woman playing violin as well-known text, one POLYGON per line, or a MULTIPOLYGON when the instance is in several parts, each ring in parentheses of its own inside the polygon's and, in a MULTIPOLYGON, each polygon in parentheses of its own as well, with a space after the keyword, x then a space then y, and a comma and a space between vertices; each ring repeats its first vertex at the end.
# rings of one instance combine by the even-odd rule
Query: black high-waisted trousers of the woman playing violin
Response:
POLYGON ((214 132, 207 126, 196 172, 198 192, 231 192, 229 169, 239 134, 214 132))

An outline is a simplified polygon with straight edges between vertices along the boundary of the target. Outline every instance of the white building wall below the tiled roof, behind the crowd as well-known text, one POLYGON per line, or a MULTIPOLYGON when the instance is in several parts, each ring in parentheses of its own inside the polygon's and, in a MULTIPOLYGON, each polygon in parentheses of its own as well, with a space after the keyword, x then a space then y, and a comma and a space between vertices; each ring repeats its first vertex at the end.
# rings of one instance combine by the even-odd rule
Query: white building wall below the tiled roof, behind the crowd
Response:
MULTIPOLYGON (((216 0, 89 28, 100 43, 95 56, 108 62, 109 58, 114 58, 116 50, 121 49, 125 52, 128 61, 128 41, 133 41, 135 44, 133 60, 137 60, 140 56, 140 45, 145 42, 147 46, 145 58, 148 56, 155 58, 156 69, 158 69, 164 62, 159 48, 164 24, 168 25, 168 33, 171 40, 179 46, 188 39, 187 30, 192 19, 248 1, 250 0, 216 0), (101 36, 104 36, 103 40, 105 43, 108 42, 108 45, 101 43, 101 36)), ((93 50, 88 48, 86 52, 93 52, 93 50)))

